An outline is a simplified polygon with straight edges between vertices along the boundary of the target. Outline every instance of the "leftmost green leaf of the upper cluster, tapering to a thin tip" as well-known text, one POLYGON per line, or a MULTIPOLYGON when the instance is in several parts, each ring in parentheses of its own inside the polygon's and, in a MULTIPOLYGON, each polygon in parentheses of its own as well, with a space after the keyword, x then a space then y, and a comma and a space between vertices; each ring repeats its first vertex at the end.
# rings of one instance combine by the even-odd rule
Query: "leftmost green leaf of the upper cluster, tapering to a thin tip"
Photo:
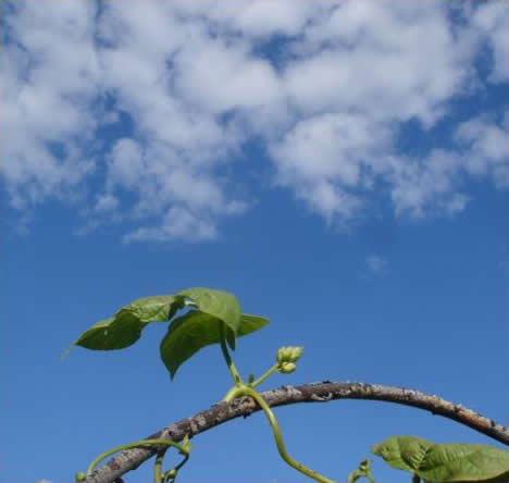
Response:
POLYGON ((120 309, 113 317, 95 323, 64 352, 74 346, 92 350, 115 350, 133 345, 149 322, 167 321, 185 306, 183 296, 144 297, 120 309))

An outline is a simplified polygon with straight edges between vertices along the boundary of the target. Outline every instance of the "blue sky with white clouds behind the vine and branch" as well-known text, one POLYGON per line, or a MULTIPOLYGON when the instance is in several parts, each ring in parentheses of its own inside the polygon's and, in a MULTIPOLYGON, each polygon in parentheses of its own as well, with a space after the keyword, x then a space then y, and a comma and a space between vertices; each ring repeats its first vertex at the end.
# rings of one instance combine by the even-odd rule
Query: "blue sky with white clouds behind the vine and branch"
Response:
MULTIPOLYGON (((123 305, 191 286, 271 319, 239 340, 243 374, 305 346, 266 388, 405 386, 508 422, 507 3, 1 9, 1 483, 70 482, 221 399, 218 347, 170 381, 164 324, 59 362, 123 305)), ((338 482, 394 434, 497 445, 381 403, 276 416, 289 453, 338 482)), ((181 478, 305 481, 261 414, 194 439, 181 478)))

